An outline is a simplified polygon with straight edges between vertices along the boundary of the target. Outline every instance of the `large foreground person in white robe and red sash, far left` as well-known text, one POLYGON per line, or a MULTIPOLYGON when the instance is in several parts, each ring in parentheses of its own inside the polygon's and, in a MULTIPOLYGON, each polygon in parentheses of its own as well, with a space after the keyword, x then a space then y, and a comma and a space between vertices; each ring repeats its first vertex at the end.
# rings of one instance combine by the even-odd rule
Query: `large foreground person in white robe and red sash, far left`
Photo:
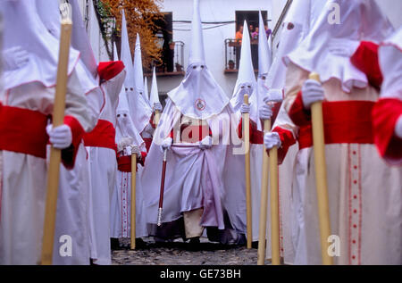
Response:
MULTIPOLYGON (((35 2, 4 1, 0 12, 7 38, 2 54, 13 62, 4 68, 0 94, 0 131, 5 137, 0 146, 0 263, 38 264, 45 216, 47 138, 63 149, 61 167, 73 168, 83 133, 96 123, 85 96, 96 85, 83 69, 79 52, 71 48, 64 124, 46 127, 53 112, 59 38, 39 18, 35 2)), ((58 203, 66 201, 63 189, 59 191, 58 203)), ((74 248, 80 238, 70 236, 74 248)), ((62 244, 58 238, 56 243, 58 252, 62 244)))

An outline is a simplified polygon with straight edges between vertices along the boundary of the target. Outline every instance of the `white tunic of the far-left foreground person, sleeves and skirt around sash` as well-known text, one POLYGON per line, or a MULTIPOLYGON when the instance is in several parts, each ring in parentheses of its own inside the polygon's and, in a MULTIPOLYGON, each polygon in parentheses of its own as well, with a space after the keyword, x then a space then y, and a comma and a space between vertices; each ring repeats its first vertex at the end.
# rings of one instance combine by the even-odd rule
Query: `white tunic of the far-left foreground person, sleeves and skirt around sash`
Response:
MULTIPOLYGON (((51 114, 54 87, 29 83, 2 92, 0 101, 4 105, 51 114)), ((91 129, 96 121, 88 114, 86 97, 75 71, 69 79, 66 102, 65 114, 78 119, 84 130, 91 129)), ((0 159, 3 163, 0 264, 38 264, 46 202, 46 159, 8 151, 0 151, 0 159)), ((70 236, 73 241, 80 238, 73 233, 70 236)))

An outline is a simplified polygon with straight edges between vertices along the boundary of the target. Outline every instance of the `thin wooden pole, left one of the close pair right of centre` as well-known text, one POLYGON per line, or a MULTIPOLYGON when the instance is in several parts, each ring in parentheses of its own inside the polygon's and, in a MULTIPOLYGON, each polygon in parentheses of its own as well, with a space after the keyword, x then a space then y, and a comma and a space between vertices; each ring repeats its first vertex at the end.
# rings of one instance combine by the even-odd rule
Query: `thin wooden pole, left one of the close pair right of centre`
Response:
MULTIPOLYGON (((271 120, 264 121, 264 134, 271 131, 271 120)), ((265 263, 265 240, 266 240, 266 212, 268 206, 268 167, 269 157, 266 147, 263 148, 263 170, 261 179, 261 202, 260 202, 260 225, 258 234, 258 258, 257 264, 265 263)))

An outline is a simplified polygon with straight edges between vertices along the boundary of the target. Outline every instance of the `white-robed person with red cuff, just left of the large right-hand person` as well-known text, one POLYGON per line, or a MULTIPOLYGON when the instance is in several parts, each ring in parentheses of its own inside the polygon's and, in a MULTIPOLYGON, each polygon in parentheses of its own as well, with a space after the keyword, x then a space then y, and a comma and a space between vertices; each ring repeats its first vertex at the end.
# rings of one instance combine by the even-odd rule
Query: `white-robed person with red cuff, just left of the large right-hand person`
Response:
MULTIPOLYGON (((283 62, 283 56, 296 49, 300 42, 307 36, 308 31, 314 26, 315 21, 322 12, 324 0, 304 1, 295 0, 289 7, 289 12, 282 23, 282 32, 276 56, 272 62, 264 87, 267 89, 265 101, 270 99, 273 93, 285 92, 285 77, 287 67, 283 62)), ((265 135, 269 148, 279 146, 279 198, 280 198, 280 246, 281 257, 286 264, 294 262, 294 246, 292 238, 297 235, 297 203, 294 204, 295 192, 292 189, 292 176, 296 154, 298 151, 297 139, 291 129, 294 123, 289 118, 284 104, 271 107, 262 104, 260 117, 262 120, 272 118, 272 132, 265 135), (279 106, 279 109, 278 109, 279 106), (268 114, 268 115, 266 115, 268 114)), ((268 211, 268 215, 270 212, 268 211)), ((270 219, 268 217, 268 219, 270 219)), ((269 223, 267 225, 270 230, 269 223)), ((266 258, 271 259, 271 237, 267 237, 266 258)))

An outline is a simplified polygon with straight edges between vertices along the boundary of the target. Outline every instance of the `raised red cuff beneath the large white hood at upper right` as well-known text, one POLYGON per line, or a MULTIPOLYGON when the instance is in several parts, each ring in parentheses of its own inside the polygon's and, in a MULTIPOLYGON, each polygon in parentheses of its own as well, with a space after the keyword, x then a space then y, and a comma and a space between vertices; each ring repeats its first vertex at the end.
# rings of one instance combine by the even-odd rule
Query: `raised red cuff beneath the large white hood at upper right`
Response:
POLYGON ((382 74, 378 60, 378 45, 370 41, 362 41, 355 54, 350 57, 350 62, 357 69, 363 71, 369 83, 379 89, 382 84, 382 74))

